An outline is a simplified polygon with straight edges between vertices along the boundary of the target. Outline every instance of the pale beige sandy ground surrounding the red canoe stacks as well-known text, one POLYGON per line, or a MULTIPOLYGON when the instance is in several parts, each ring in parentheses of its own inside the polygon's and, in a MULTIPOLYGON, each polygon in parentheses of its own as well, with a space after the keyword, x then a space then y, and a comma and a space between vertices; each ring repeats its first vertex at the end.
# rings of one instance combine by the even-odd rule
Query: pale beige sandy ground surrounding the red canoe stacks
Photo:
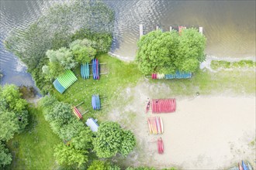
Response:
POLYGON ((144 82, 127 88, 111 110, 109 119, 134 132, 137 148, 127 165, 182 169, 223 169, 248 160, 255 169, 255 97, 176 97, 171 114, 145 114, 149 98, 172 98, 171 89, 144 82), (123 102, 120 103, 120 102, 123 102), (149 134, 147 117, 161 116, 164 134, 149 134), (157 153, 163 138, 164 155, 157 153))

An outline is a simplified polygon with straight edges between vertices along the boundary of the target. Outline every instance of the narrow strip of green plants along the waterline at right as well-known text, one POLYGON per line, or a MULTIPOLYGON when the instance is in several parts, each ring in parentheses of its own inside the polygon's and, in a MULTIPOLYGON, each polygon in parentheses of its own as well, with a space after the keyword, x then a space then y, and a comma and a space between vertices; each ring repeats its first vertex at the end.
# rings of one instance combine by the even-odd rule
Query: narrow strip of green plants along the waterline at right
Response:
POLYGON ((230 68, 253 68, 256 66, 256 62, 252 60, 240 60, 237 62, 229 62, 225 60, 212 60, 211 68, 213 70, 218 69, 230 69, 230 68))

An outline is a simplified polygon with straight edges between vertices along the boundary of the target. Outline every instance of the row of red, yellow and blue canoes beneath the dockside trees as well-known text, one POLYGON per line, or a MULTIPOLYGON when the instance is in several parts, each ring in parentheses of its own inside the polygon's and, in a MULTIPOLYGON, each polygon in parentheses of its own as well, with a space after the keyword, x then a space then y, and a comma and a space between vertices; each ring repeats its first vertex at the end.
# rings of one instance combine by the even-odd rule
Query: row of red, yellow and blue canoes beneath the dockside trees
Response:
POLYGON ((152 79, 189 79, 192 73, 176 71, 175 74, 152 73, 152 79))

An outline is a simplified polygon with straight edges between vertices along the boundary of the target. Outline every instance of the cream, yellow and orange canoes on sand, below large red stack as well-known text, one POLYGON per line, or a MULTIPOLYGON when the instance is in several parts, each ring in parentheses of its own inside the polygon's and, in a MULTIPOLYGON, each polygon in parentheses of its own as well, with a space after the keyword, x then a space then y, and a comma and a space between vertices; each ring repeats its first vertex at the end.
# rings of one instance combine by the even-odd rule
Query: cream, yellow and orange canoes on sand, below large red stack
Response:
POLYGON ((150 134, 164 133, 164 125, 161 117, 149 117, 147 118, 147 124, 150 134))

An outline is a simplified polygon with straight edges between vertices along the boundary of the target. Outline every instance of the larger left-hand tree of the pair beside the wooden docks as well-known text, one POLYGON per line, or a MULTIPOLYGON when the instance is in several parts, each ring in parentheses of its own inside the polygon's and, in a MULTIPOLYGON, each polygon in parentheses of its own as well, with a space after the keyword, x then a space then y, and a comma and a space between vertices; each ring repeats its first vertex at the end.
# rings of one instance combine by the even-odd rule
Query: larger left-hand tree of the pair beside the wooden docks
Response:
POLYGON ((178 48, 177 32, 161 32, 160 30, 142 36, 137 43, 137 63, 145 73, 175 72, 175 49, 178 48))

